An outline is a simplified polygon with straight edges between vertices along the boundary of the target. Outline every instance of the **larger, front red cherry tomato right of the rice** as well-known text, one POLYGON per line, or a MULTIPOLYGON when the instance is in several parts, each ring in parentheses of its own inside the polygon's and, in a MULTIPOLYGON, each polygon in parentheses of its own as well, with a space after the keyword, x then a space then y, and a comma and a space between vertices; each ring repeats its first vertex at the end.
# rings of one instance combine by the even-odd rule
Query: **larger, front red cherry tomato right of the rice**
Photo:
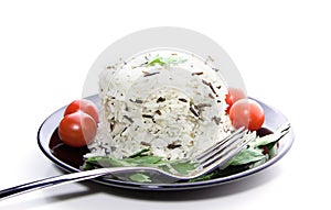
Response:
POLYGON ((229 109, 229 119, 236 129, 245 126, 249 131, 256 131, 265 121, 265 112, 258 102, 252 99, 241 99, 229 109))

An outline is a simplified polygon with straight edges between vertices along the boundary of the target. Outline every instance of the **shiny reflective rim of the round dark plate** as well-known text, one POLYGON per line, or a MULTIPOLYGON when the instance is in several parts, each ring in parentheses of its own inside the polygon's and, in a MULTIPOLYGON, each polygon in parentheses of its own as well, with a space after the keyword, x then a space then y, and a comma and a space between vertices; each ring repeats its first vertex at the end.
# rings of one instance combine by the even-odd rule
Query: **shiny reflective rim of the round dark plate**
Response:
MULTIPOLYGON (((87 97, 87 99, 97 101, 98 96, 95 95, 92 97, 87 97)), ((288 119, 280 111, 269 107, 268 104, 266 104, 257 99, 254 99, 254 100, 259 102, 265 110, 266 121, 265 121, 264 126, 274 131, 277 126, 280 126, 282 123, 288 122, 288 119)), ((64 109, 65 109, 65 107, 60 108, 58 110, 53 112, 50 117, 47 117, 44 120, 44 122, 41 124, 41 126, 38 131, 38 137, 36 137, 38 145, 39 145, 40 150, 42 151, 42 153, 60 168, 66 170, 67 173, 81 172, 78 168, 75 168, 75 167, 62 162, 57 157, 55 157, 49 147, 51 136, 52 136, 53 132, 55 131, 55 129, 57 128, 57 125, 63 117, 64 109)), ((295 134, 293 134, 292 128, 290 128, 289 133, 280 140, 280 147, 279 147, 277 156, 275 156, 274 158, 269 159, 265 164, 259 165, 257 167, 254 167, 254 168, 250 168, 250 169, 237 173, 237 174, 233 174, 229 176, 211 179, 211 180, 203 180, 203 181, 196 181, 196 183, 175 183, 175 184, 139 184, 139 183, 129 183, 129 181, 116 180, 116 179, 106 179, 103 177, 96 178, 93 180, 96 183, 106 185, 106 186, 127 188, 127 189, 139 189, 139 190, 184 190, 184 189, 213 187, 213 186, 217 186, 217 185, 222 185, 222 184, 226 184, 226 183, 231 183, 231 181, 235 181, 235 180, 245 178, 249 175, 254 175, 254 174, 274 165, 275 163, 277 163, 279 159, 281 159, 288 153, 288 151, 290 150, 290 147, 293 143, 293 140, 295 140, 295 134)))

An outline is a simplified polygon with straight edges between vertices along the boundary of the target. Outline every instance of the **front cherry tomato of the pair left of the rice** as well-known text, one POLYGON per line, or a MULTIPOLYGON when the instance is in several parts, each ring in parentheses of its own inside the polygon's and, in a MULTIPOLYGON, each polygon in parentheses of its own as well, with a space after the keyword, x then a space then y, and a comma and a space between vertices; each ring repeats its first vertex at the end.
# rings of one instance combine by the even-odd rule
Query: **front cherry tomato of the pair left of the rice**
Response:
POLYGON ((96 133, 95 120, 82 111, 66 114, 58 125, 58 136, 68 146, 86 146, 94 140, 96 133))

